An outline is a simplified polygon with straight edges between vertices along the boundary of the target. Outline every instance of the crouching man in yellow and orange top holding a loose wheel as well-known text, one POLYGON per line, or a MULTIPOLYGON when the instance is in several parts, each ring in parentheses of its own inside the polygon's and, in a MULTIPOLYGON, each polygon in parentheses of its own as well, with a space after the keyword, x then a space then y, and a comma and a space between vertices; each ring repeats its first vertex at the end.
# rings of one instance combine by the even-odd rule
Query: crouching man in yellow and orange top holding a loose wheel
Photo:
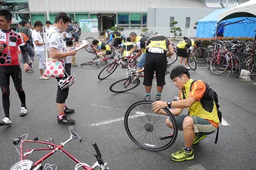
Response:
MULTIPOLYGON (((212 100, 203 100, 206 85, 203 81, 194 81, 184 66, 172 69, 170 78, 180 90, 178 101, 156 101, 152 104, 154 112, 161 114, 165 107, 175 108, 170 111, 175 116, 178 130, 183 130, 185 146, 171 154, 173 161, 191 160, 194 158, 192 145, 214 133, 220 123, 217 107, 212 100), (194 83, 193 83, 194 82, 194 83), (204 105, 202 105, 204 104, 204 105), (184 108, 189 114, 180 115, 184 108)), ((166 125, 173 128, 173 124, 166 119, 166 125)))

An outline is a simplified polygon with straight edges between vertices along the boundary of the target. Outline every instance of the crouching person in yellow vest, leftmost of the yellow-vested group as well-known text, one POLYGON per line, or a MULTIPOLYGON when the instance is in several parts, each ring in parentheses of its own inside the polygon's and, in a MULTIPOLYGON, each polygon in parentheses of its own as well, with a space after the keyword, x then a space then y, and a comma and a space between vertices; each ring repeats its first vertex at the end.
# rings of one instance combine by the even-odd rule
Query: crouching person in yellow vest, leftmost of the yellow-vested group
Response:
POLYGON ((105 55, 111 54, 111 48, 105 42, 93 40, 93 45, 98 47, 93 47, 93 50, 97 52, 97 58, 103 58, 105 55))

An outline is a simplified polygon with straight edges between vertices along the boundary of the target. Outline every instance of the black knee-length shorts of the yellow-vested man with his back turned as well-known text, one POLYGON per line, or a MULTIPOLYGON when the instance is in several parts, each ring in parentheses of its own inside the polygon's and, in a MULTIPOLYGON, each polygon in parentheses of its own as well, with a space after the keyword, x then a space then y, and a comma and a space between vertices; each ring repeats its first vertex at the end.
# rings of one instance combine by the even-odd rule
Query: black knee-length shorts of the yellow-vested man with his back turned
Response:
POLYGON ((166 55, 146 53, 144 66, 144 86, 152 86, 154 72, 156 72, 157 86, 164 86, 166 73, 166 55))

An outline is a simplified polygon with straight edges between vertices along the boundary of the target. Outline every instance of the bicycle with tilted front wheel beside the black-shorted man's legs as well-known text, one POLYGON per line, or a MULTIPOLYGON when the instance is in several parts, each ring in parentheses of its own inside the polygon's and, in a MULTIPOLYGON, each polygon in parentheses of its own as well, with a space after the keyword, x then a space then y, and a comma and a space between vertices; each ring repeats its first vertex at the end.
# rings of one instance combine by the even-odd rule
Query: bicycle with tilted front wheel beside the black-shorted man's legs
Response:
MULTIPOLYGON (((132 57, 125 57, 125 58, 132 58, 132 57)), ((140 79, 139 77, 144 77, 143 74, 141 74, 141 72, 143 72, 144 70, 136 70, 136 69, 131 69, 129 64, 128 64, 128 60, 127 62, 127 66, 128 68, 126 68, 126 74, 127 74, 127 78, 121 79, 119 81, 116 81, 115 83, 113 83, 110 86, 110 91, 111 92, 127 92, 131 89, 134 89, 135 87, 139 86, 140 84, 140 79)), ((171 64, 167 64, 167 68, 166 68, 166 75, 170 73, 169 68, 170 68, 171 64)), ((154 78, 155 78, 155 73, 154 73, 154 78)))

